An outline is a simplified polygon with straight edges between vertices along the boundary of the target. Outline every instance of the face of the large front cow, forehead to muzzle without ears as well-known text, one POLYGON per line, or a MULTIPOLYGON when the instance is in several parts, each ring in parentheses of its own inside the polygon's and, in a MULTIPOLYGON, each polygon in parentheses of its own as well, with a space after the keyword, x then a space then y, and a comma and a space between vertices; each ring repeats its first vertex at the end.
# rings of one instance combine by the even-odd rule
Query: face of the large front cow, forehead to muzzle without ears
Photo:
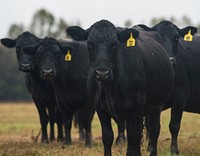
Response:
POLYGON ((111 29, 104 31, 91 30, 87 39, 89 60, 93 78, 99 81, 113 79, 113 68, 116 66, 119 41, 111 29))

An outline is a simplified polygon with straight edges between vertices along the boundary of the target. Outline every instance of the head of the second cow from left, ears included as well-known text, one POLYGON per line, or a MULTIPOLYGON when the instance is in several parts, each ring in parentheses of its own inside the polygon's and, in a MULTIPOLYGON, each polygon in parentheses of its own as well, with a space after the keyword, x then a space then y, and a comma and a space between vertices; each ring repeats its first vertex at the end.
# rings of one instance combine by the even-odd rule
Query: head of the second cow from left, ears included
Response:
POLYGON ((24 53, 35 55, 35 66, 42 79, 53 79, 61 70, 60 63, 66 59, 66 55, 72 55, 73 49, 69 45, 60 44, 53 38, 44 38, 38 45, 24 48, 24 53))

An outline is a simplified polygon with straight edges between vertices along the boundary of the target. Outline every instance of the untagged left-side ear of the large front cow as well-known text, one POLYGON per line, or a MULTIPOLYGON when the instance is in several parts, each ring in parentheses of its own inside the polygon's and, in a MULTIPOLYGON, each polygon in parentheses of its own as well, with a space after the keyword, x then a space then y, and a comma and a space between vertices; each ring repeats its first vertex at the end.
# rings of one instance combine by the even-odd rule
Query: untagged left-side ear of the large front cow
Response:
POLYGON ((66 29, 67 35, 77 41, 85 41, 88 38, 88 32, 81 27, 71 26, 66 29))

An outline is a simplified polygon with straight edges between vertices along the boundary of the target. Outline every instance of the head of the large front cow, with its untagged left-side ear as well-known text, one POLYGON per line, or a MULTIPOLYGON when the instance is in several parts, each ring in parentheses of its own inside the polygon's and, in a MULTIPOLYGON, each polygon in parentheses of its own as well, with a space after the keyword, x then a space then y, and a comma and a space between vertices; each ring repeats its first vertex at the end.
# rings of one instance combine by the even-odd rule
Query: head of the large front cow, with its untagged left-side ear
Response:
POLYGON ((98 81, 112 80, 113 70, 119 62, 120 42, 125 38, 124 35, 129 37, 130 33, 126 29, 116 28, 107 20, 96 22, 87 30, 72 26, 67 33, 75 40, 86 41, 92 78, 98 81))

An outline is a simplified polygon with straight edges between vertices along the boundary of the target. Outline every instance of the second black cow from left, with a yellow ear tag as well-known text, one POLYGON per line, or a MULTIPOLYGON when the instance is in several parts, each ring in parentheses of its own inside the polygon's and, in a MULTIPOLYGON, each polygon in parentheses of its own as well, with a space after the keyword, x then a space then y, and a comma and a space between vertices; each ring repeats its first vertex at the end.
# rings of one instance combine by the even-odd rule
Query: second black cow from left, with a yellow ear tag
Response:
POLYGON ((89 60, 83 43, 57 41, 44 38, 36 46, 24 48, 25 53, 35 53, 35 65, 40 78, 51 81, 57 105, 63 115, 65 144, 71 144, 71 126, 74 113, 79 110, 79 124, 85 129, 86 146, 92 145, 91 122, 94 108, 88 101, 87 75, 89 60))

